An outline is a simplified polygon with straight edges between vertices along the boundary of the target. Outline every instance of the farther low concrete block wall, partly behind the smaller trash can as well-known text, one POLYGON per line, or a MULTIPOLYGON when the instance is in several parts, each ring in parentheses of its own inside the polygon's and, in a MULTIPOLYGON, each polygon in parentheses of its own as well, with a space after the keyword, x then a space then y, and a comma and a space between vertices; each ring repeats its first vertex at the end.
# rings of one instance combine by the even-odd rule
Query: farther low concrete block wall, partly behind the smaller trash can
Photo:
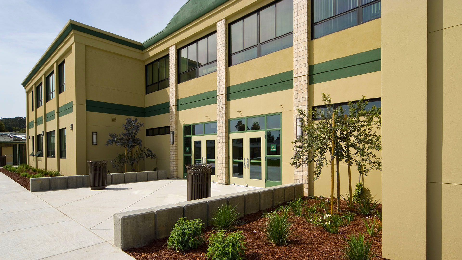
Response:
MULTIPOLYGON (((164 179, 167 179, 167 171, 106 174, 107 185, 164 179)), ((88 174, 75 176, 30 178, 29 184, 31 192, 73 189, 89 186, 88 174)))

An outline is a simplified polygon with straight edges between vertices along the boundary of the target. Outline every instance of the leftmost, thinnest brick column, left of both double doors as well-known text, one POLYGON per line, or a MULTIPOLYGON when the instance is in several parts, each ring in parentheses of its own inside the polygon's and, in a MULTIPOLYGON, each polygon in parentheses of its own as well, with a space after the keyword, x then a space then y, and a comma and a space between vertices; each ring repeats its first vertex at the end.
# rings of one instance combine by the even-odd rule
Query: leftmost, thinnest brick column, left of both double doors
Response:
POLYGON ((170 131, 173 131, 173 144, 170 144, 170 177, 178 177, 178 110, 176 99, 178 99, 178 76, 177 76, 177 51, 176 45, 170 46, 170 131))

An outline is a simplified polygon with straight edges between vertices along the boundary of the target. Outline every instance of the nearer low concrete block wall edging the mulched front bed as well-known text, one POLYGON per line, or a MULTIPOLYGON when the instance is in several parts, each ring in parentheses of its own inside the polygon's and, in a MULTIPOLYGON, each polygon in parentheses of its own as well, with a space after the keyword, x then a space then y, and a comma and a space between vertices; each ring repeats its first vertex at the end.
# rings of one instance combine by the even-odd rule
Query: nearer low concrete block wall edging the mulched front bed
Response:
POLYGON ((117 213, 114 215, 114 245, 122 250, 140 248, 152 243, 154 238, 168 237, 181 217, 199 218, 205 225, 210 225, 215 211, 225 204, 236 206, 237 212, 243 216, 278 206, 286 199, 301 198, 303 194, 303 183, 292 183, 117 213), (142 221, 148 228, 140 228, 142 221))

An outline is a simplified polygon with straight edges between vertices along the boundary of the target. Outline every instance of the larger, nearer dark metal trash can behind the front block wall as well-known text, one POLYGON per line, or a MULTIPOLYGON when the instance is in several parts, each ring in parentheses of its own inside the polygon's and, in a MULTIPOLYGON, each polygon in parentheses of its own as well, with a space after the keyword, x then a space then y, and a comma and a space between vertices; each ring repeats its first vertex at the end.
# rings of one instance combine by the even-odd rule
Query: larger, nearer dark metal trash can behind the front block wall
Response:
POLYGON ((208 198, 212 196, 212 165, 185 165, 188 173, 188 200, 208 198))

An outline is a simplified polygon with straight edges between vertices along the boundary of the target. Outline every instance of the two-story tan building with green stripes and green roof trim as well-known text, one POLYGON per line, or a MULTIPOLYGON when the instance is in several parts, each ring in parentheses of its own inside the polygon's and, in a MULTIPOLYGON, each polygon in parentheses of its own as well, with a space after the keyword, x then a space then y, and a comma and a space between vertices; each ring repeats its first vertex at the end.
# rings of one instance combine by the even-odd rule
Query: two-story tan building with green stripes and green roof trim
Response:
POLYGON ((290 164, 297 109, 322 106, 322 93, 336 105, 365 95, 383 113, 383 171, 364 178, 383 202, 383 257, 457 259, 457 10, 456 0, 189 0, 143 43, 69 20, 22 83, 26 161, 86 174, 86 161, 124 152, 105 146, 108 134, 138 118, 158 156, 140 170, 183 178, 184 165, 210 163, 221 184, 299 182, 326 195, 329 171, 314 182, 311 166, 290 164))

